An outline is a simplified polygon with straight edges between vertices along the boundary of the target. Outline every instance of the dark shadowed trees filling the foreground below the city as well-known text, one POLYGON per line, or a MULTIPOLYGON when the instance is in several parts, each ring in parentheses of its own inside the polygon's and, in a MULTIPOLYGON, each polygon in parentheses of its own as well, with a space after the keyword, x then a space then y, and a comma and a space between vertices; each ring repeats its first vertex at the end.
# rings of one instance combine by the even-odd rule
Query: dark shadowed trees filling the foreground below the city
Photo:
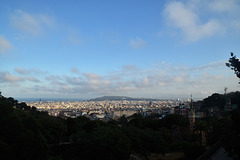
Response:
MULTIPOLYGON (((228 94, 239 107, 240 93, 228 94)), ((240 155, 240 113, 224 111, 224 95, 213 94, 201 102, 202 109, 219 106, 218 115, 196 120, 189 132, 187 118, 171 114, 142 117, 134 114, 108 122, 86 117, 62 119, 39 112, 13 98, 0 98, 0 155, 25 160, 128 160, 131 155, 148 159, 151 153, 182 152, 181 159, 196 159, 206 151, 200 131, 207 135, 207 146, 221 140, 227 153, 240 155)))

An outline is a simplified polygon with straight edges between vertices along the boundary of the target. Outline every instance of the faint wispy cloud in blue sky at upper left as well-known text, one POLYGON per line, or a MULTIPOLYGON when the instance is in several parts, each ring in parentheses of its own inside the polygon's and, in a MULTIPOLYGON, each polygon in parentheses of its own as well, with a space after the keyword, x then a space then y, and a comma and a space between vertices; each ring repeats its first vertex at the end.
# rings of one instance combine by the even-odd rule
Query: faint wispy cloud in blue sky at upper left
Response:
POLYGON ((39 36, 44 33, 45 27, 54 25, 54 20, 44 14, 30 14, 22 10, 15 10, 10 15, 10 23, 18 30, 32 36, 39 36))

